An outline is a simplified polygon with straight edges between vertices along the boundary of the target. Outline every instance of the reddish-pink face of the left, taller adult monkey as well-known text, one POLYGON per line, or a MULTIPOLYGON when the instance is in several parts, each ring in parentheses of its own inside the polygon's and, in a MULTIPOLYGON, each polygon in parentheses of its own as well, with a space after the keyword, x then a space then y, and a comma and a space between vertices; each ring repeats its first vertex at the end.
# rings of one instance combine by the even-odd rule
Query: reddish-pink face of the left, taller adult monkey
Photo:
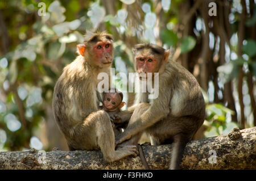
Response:
POLYGON ((100 68, 106 68, 111 65, 113 60, 113 45, 109 41, 99 41, 93 47, 94 60, 100 68))

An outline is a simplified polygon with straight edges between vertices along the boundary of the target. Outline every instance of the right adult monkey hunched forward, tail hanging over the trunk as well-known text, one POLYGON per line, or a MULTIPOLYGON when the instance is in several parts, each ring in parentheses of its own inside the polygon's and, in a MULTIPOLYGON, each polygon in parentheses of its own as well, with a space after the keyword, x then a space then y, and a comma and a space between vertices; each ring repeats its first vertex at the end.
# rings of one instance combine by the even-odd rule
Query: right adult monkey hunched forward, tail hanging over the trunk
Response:
POLYGON ((122 145, 136 145, 143 132, 150 134, 151 145, 173 139, 170 169, 179 169, 185 145, 204 122, 205 103, 199 83, 187 69, 168 58, 169 50, 158 45, 135 45, 134 54, 137 73, 152 73, 152 81, 154 73, 159 73, 159 96, 149 100, 148 92, 137 93, 130 108, 135 108, 134 113, 115 144, 131 138, 122 145))

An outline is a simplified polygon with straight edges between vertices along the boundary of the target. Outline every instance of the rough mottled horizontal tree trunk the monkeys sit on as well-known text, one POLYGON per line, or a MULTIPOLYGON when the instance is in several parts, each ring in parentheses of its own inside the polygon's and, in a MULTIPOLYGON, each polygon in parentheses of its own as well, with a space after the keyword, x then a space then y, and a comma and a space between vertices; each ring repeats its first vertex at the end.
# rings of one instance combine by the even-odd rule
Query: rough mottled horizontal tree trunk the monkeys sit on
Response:
MULTIPOLYGON (((171 145, 143 145, 150 169, 168 169, 171 145)), ((112 163, 97 151, 6 151, 0 152, 0 169, 144 169, 139 157, 112 163)), ((190 141, 184 151, 181 169, 256 169, 256 127, 227 136, 190 141), (213 153, 213 155, 212 155, 213 153), (216 153, 216 155, 214 155, 216 153)))

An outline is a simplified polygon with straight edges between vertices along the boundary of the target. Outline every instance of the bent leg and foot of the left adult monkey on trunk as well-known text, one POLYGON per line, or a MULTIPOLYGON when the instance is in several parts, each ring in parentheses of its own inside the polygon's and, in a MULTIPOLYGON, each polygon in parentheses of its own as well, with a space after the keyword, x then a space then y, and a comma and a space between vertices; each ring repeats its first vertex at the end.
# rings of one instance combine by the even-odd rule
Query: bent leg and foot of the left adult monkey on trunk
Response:
POLYGON ((69 148, 73 150, 95 150, 100 147, 105 161, 113 162, 128 155, 137 155, 136 146, 125 146, 115 150, 114 131, 107 112, 100 110, 73 128, 69 148))

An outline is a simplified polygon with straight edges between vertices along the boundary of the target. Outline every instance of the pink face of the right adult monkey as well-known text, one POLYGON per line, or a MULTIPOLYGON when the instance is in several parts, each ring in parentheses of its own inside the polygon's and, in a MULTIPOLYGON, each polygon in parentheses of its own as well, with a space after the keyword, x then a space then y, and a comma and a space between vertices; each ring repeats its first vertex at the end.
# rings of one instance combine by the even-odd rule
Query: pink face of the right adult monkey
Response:
POLYGON ((154 56, 136 56, 137 73, 154 73, 158 70, 158 60, 154 56))

